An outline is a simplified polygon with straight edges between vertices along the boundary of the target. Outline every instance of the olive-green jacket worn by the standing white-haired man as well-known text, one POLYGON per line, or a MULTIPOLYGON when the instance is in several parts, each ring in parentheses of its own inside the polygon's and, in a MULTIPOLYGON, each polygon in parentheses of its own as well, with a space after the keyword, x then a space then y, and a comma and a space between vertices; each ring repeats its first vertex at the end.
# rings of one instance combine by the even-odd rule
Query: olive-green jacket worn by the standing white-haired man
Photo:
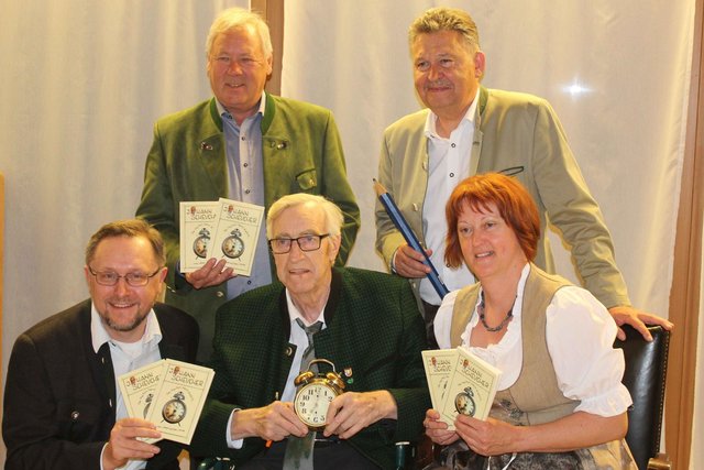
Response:
MULTIPOLYGON (((276 199, 294 193, 322 195, 342 209, 338 264, 343 265, 360 228, 360 209, 346 178, 342 142, 332 113, 315 105, 266 95, 262 154, 267 210, 276 199)), ((166 303, 198 320, 201 361, 210 356, 215 313, 226 302, 227 286, 223 283, 197 291, 177 273, 178 209, 180 201, 227 196, 226 143, 215 98, 160 119, 154 124, 136 216, 164 237, 168 265, 166 303)), ((276 277, 275 273, 272 275, 276 277)))

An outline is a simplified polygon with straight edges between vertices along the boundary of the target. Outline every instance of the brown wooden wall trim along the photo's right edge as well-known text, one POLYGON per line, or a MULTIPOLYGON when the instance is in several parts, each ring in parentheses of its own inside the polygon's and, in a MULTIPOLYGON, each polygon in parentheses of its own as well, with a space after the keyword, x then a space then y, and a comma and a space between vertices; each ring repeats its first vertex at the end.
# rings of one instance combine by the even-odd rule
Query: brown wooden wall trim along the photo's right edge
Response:
POLYGON ((692 76, 684 146, 680 209, 670 289, 674 330, 666 391, 666 450, 673 468, 689 469, 694 416, 696 345, 702 293, 702 231, 704 226, 704 0, 696 0, 692 76))

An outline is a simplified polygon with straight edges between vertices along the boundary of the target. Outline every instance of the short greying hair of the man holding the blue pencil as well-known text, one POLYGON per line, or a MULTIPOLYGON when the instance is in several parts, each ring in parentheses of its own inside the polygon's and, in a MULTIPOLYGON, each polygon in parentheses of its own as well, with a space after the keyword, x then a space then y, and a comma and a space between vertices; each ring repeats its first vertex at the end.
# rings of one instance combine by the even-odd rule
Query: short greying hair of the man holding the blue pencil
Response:
POLYGON ((420 34, 440 31, 455 31, 464 39, 472 54, 480 51, 480 32, 470 13, 446 7, 431 8, 418 17, 408 29, 408 44, 413 47, 420 34))

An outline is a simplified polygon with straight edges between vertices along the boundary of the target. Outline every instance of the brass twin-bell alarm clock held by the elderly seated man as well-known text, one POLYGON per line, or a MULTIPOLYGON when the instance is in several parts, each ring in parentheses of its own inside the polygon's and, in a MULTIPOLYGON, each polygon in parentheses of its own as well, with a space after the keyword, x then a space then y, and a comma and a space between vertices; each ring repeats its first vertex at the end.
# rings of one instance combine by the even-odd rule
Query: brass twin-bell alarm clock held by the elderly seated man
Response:
POLYGON ((298 387, 294 398, 294 411, 310 430, 326 427, 326 416, 330 402, 344 391, 344 382, 334 370, 334 364, 327 359, 314 359, 306 372, 301 372, 294 385, 298 387), (310 370, 315 363, 327 363, 332 372, 316 373, 310 370))

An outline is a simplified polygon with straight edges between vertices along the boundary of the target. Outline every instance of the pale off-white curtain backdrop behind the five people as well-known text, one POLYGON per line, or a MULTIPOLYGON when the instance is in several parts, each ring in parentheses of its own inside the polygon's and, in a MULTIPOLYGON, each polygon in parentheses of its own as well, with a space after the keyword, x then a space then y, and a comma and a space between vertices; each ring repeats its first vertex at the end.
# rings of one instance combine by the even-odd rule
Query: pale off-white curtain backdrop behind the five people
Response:
MULTIPOLYGON (((6 175, 4 371, 14 338, 87 296, 82 250, 131 217, 152 124, 210 96, 204 43, 248 0, 0 0, 6 175)), ((689 89, 692 0, 481 0, 468 8, 488 87, 548 98, 602 204, 634 303, 664 314, 689 89), (588 88, 575 96, 574 84, 588 88)), ((419 108, 406 30, 427 0, 286 3, 283 95, 331 108, 374 253, 372 177, 383 129, 419 108)), ((570 269, 561 256, 562 272, 570 269)), ((673 358, 676 360, 676 358, 673 358)), ((4 373, 4 372, 3 372, 4 373)), ((696 440, 695 440, 696 441, 696 440)), ((0 456, 0 463, 2 456, 0 456)))

